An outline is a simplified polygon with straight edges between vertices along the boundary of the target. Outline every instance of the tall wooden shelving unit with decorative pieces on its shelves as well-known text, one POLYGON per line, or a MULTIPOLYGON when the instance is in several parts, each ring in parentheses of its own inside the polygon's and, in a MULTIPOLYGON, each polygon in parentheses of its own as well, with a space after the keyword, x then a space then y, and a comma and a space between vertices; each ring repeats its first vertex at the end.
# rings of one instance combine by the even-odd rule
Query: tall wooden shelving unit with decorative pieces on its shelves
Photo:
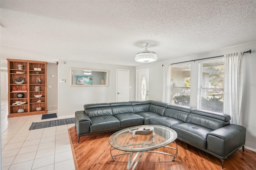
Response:
POLYGON ((7 59, 7 61, 8 117, 20 117, 47 113, 47 62, 20 59, 7 59), (18 69, 18 65, 22 65, 23 68, 18 69), (37 70, 37 68, 39 69, 37 70), (23 83, 19 83, 23 80, 19 77, 24 79, 23 83), (36 83, 38 78, 41 80, 40 83, 36 83), (36 86, 40 87, 40 91, 35 91, 36 86), (18 96, 22 95, 23 97, 18 98, 18 96), (42 97, 35 97, 34 95, 42 95, 42 97), (26 101, 26 103, 22 105, 14 105, 14 103, 17 101, 26 101), (37 111, 38 107, 41 107, 42 110, 37 111), (19 109, 23 109, 24 112, 19 113, 19 109))

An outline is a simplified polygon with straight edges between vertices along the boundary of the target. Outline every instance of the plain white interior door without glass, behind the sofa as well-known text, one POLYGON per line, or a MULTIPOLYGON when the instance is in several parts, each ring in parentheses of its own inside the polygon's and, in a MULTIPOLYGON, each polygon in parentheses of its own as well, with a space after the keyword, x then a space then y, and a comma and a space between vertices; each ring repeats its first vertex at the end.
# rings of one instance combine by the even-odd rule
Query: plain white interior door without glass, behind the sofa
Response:
POLYGON ((116 69, 116 101, 129 101, 130 70, 116 69))

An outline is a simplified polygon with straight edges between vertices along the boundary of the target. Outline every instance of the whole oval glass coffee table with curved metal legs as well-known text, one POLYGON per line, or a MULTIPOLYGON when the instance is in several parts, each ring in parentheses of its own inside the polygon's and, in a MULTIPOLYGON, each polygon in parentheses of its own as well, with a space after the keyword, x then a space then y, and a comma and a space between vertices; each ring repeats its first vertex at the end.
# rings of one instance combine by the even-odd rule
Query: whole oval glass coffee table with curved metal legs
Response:
POLYGON ((134 170, 140 161, 140 158, 145 152, 155 152, 160 154, 166 154, 173 156, 172 160, 175 160, 178 154, 178 146, 174 141, 177 138, 177 133, 171 128, 160 125, 141 125, 136 127, 130 127, 115 132, 108 139, 110 144, 110 154, 112 160, 115 161, 115 157, 123 154, 130 154, 127 170, 134 170), (167 146, 169 144, 174 147, 167 146), (156 149, 166 147, 170 148, 175 153, 159 152, 156 149), (114 150, 121 150, 124 152, 113 154, 114 150))

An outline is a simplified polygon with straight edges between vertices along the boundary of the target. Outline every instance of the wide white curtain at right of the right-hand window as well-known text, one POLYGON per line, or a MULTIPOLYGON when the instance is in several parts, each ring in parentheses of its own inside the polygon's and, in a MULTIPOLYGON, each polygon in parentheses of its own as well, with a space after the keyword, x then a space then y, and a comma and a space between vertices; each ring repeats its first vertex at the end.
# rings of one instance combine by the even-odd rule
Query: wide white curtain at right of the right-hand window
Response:
POLYGON ((230 123, 242 125, 243 54, 227 54, 224 62, 224 113, 230 115, 230 123))

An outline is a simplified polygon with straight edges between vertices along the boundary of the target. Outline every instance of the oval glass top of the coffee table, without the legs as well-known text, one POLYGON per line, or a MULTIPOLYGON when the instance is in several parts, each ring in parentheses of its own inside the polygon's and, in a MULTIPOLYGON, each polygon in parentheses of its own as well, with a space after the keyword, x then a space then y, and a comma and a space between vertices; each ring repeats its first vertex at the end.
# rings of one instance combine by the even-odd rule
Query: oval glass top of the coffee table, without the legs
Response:
POLYGON ((142 152, 166 146, 176 138, 177 133, 169 127, 141 125, 115 132, 110 136, 108 142, 118 150, 142 152))

